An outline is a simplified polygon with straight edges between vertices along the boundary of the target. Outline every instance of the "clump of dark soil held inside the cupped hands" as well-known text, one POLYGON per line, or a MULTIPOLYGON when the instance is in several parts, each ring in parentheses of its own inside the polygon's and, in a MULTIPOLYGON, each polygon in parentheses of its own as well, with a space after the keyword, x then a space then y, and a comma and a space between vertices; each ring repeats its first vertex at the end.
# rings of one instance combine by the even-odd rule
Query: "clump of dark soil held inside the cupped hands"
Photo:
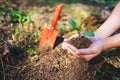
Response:
POLYGON ((78 37, 78 38, 71 39, 69 43, 77 47, 78 49, 80 49, 80 48, 89 47, 92 42, 88 38, 85 38, 84 36, 82 36, 81 38, 78 37))

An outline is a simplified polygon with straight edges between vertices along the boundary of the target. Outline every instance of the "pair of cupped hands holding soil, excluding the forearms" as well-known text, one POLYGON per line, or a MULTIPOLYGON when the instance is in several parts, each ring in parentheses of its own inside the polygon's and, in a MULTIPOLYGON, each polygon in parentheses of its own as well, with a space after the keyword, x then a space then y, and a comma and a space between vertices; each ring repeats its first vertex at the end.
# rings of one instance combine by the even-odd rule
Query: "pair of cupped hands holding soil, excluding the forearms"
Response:
POLYGON ((103 39, 97 39, 95 37, 87 37, 92 41, 92 44, 88 48, 77 49, 75 46, 68 43, 72 38, 77 38, 78 35, 74 34, 68 39, 65 39, 62 43, 62 48, 66 49, 69 53, 76 55, 85 61, 90 61, 92 58, 96 57, 103 51, 103 39))

